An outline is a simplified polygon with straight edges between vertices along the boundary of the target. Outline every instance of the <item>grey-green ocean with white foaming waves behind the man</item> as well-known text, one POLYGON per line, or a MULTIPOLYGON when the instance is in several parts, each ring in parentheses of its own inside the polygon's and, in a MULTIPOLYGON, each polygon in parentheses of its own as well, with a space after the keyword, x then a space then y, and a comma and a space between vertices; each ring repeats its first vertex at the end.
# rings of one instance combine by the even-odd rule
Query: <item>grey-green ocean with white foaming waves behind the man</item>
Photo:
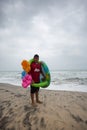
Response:
MULTIPOLYGON (((87 70, 50 71, 51 83, 48 90, 87 92, 87 70)), ((21 71, 1 71, 0 83, 21 86, 21 71)))

